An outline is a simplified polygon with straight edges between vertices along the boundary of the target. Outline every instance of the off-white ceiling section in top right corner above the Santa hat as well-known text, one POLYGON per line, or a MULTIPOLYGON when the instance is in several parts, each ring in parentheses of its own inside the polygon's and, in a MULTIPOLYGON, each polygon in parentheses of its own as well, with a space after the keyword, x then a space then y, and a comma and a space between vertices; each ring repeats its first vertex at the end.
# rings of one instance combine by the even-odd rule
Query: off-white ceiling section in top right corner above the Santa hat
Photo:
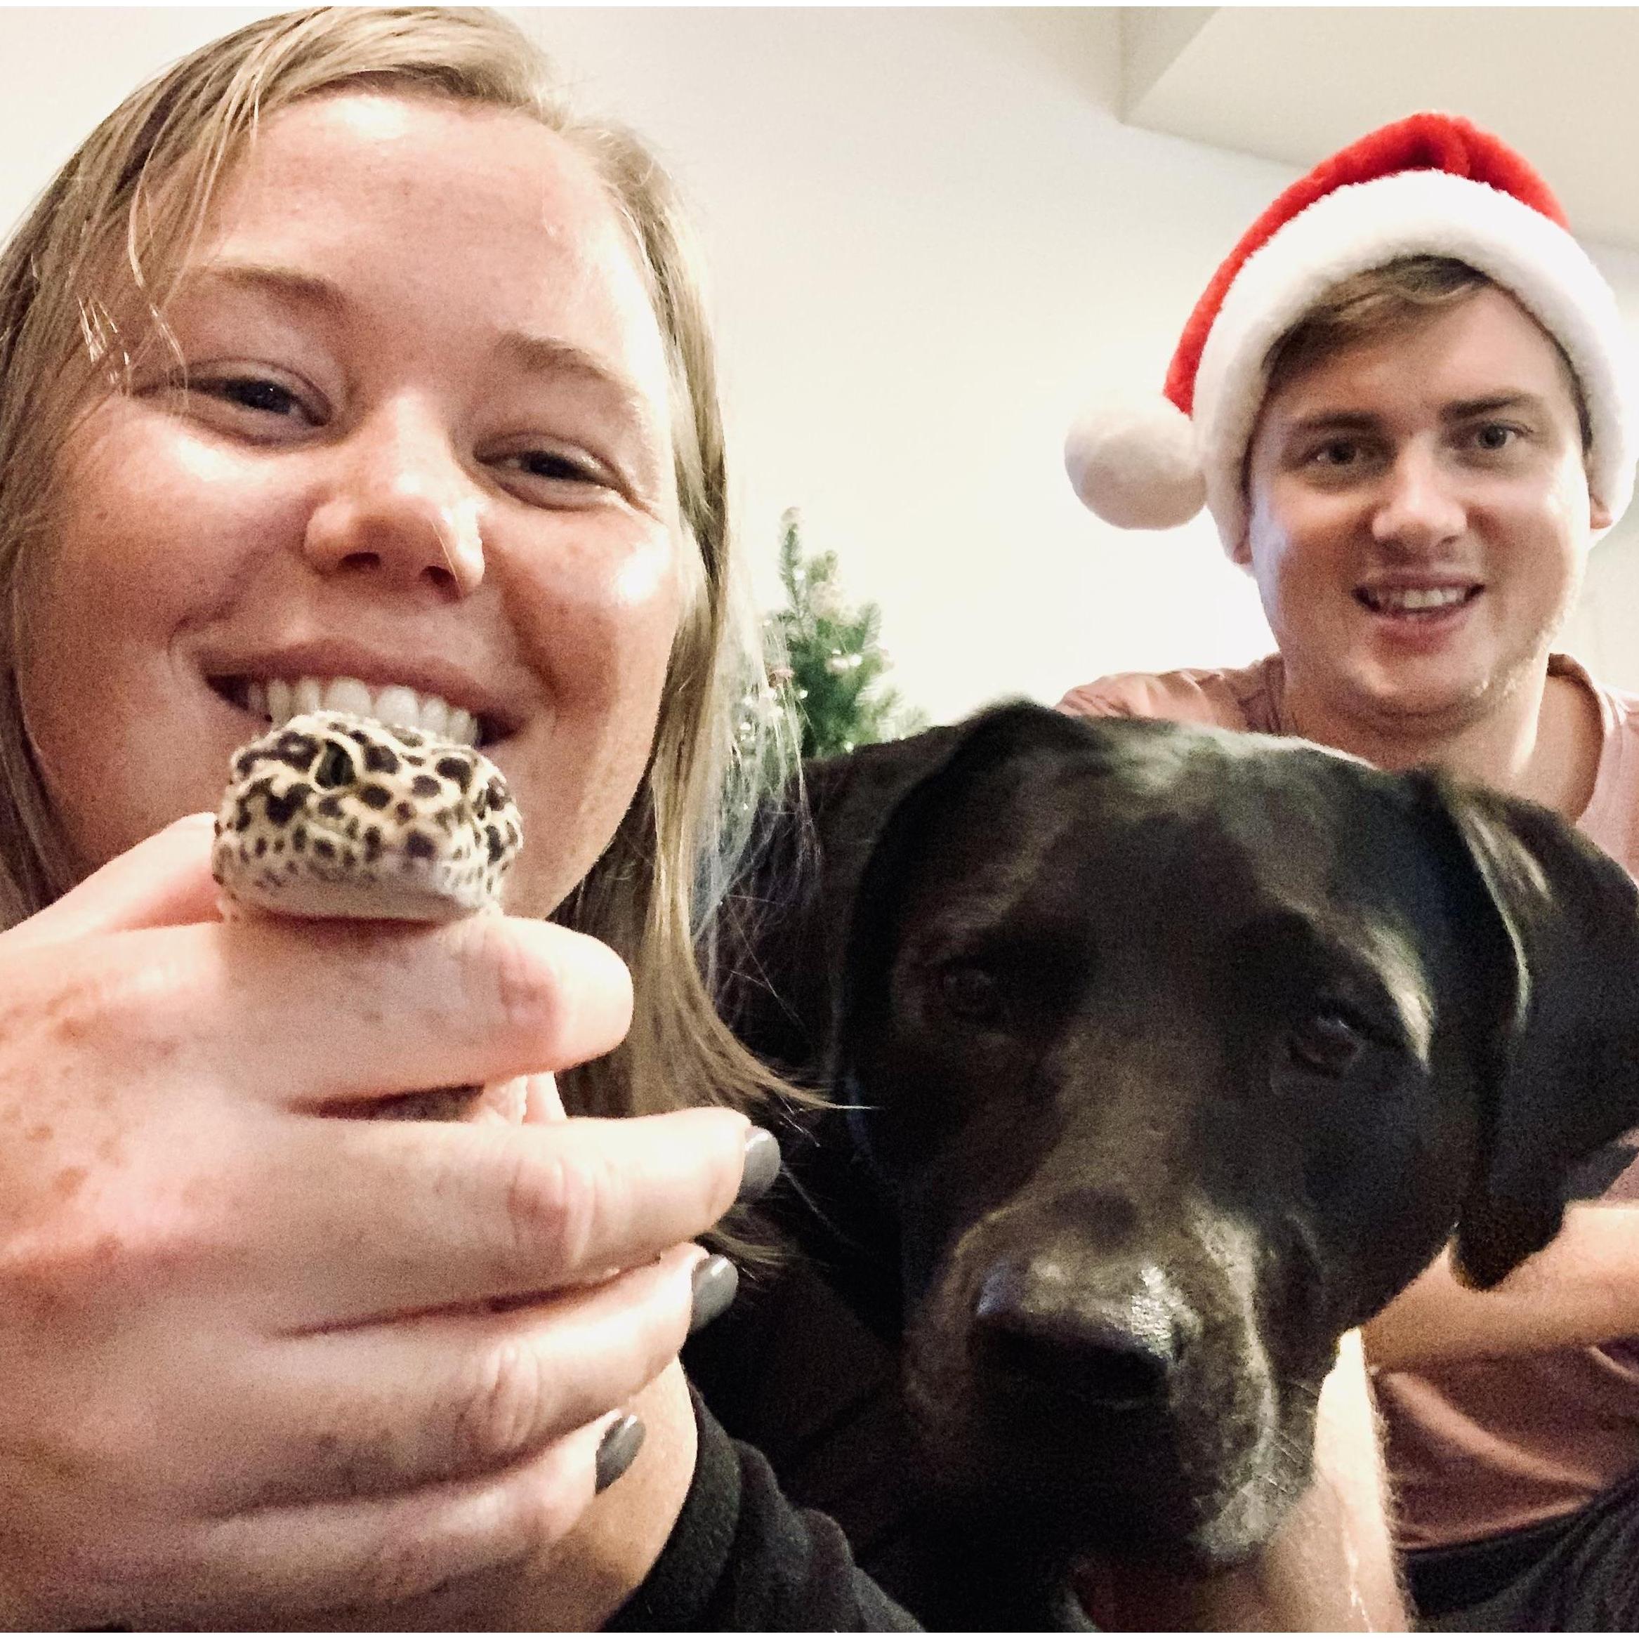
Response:
POLYGON ((1639 10, 1124 7, 1131 125, 1308 169, 1419 108, 1514 144, 1580 236, 1639 247, 1639 10))

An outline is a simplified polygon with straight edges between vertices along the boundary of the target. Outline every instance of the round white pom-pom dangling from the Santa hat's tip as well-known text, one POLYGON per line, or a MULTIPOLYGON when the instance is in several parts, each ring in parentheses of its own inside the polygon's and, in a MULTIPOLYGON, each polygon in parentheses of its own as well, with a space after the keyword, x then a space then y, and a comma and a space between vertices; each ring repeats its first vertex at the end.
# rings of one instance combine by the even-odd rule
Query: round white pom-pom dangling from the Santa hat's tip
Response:
POLYGON ((1206 505, 1195 426, 1170 398, 1096 405, 1064 443, 1082 503, 1121 529, 1174 529, 1206 505))

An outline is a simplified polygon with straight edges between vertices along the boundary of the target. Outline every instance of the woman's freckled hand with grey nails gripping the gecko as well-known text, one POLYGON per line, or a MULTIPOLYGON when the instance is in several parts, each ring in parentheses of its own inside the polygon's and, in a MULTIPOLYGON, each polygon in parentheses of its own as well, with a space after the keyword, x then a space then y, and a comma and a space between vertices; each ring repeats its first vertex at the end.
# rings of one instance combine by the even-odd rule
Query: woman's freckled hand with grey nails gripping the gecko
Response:
POLYGON ((221 924, 207 851, 184 821, 0 936, 11 1626, 402 1608, 538 1562, 741 1183, 718 1110, 315 1115, 605 1052, 624 969, 508 918, 221 924))

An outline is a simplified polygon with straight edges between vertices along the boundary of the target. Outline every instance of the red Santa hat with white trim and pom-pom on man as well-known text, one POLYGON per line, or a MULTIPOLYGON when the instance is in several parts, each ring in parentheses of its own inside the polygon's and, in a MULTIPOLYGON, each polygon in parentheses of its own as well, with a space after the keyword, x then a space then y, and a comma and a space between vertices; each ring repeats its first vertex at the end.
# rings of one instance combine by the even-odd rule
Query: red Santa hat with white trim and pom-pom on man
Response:
POLYGON ((1195 305, 1164 393, 1090 410, 1070 429, 1075 493, 1126 529, 1170 529, 1205 503, 1234 551, 1270 347, 1341 280, 1403 256, 1467 262, 1565 349, 1591 425, 1588 488, 1619 518, 1639 415, 1616 298, 1531 166, 1442 113, 1362 136, 1252 223, 1195 305))

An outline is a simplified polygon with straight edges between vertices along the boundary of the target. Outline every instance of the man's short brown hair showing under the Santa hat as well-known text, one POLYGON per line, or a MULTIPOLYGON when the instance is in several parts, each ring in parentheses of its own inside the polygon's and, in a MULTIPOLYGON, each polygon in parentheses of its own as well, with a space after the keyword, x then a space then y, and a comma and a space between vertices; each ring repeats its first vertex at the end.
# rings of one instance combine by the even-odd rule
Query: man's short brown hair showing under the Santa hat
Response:
MULTIPOLYGON (((1452 256, 1401 256, 1382 267, 1352 274, 1333 285, 1264 356, 1264 393, 1277 393, 1287 382, 1346 347, 1411 329, 1437 313, 1470 302, 1482 290, 1501 288, 1488 274, 1452 256)), ((1588 420, 1582 382, 1557 338, 1546 329, 1542 333, 1554 343, 1554 352, 1565 370, 1582 429, 1582 451, 1587 454, 1593 446, 1593 423, 1588 420)))

